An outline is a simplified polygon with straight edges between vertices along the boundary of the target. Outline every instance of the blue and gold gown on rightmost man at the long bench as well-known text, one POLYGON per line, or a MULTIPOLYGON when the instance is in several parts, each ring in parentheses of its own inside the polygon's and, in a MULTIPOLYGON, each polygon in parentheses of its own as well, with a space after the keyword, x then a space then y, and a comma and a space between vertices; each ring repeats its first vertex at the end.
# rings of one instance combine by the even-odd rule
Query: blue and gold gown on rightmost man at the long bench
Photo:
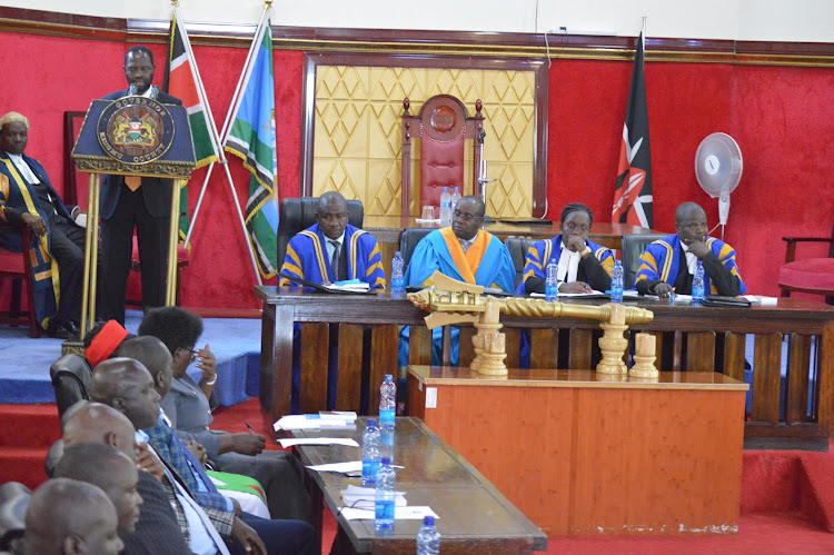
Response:
MULTIPOLYGON (((715 237, 707 237, 706 246, 709 247, 709 250, 718 258, 722 266, 727 268, 733 276, 738 278, 741 285, 741 290, 738 291, 739 295, 746 293, 747 286, 744 285, 742 276, 738 275, 738 267, 735 264, 735 250, 733 250, 733 247, 715 237)), ((677 234, 649 244, 643 255, 641 255, 641 266, 634 278, 635 285, 643 280, 648 280, 649 283, 665 281, 669 285, 674 285, 681 268, 682 252, 681 237, 677 234)), ((685 264, 686 262, 684 261, 684 265, 685 264)), ((706 271, 704 271, 704 290, 709 291, 709 295, 718 295, 715 284, 709 279, 709 275, 706 271)))

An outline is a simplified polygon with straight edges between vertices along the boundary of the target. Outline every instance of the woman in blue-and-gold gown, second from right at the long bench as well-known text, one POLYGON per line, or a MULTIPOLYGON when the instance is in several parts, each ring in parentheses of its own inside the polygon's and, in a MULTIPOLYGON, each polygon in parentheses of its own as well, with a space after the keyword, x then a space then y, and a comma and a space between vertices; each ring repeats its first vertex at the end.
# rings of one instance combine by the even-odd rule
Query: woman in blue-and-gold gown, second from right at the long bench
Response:
POLYGON ((562 210, 562 232, 553 239, 536 241, 527 251, 524 276, 516 295, 545 293, 547 265, 558 265, 560 293, 589 293, 610 289, 614 254, 588 240, 594 215, 580 202, 570 202, 562 210))

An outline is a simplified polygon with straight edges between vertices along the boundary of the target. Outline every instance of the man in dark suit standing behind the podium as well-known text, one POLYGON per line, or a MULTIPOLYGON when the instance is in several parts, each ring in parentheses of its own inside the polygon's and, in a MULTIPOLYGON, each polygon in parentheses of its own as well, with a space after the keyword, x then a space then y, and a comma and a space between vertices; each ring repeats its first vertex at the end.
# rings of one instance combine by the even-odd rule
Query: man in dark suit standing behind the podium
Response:
MULTIPOLYGON (((155 98, 165 105, 182 102, 153 87, 153 54, 146 47, 133 47, 125 54, 125 78, 136 87, 138 96, 155 98)), ((120 90, 106 96, 117 100, 131 92, 120 90)), ((125 324, 125 295, 130 257, 133 249, 133 228, 139 239, 139 260, 142 265, 142 305, 165 305, 167 274, 168 227, 171 217, 173 181, 136 176, 105 176, 101 180, 101 227, 105 269, 102 297, 106 319, 125 324)))

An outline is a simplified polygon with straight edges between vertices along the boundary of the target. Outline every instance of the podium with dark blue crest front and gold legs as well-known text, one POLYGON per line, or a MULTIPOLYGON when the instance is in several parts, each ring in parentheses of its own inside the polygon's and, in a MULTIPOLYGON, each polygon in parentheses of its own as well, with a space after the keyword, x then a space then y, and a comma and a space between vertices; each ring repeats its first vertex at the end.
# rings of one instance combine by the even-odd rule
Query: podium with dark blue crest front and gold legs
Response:
MULTIPOLYGON (((90 174, 81 305, 83 339, 96 323, 101 175, 187 180, 195 168, 188 112, 181 106, 163 105, 156 99, 138 96, 93 100, 71 156, 80 171, 90 174)), ((166 305, 169 306, 177 298, 177 229, 182 185, 176 184, 171 195, 166 280, 166 305)))

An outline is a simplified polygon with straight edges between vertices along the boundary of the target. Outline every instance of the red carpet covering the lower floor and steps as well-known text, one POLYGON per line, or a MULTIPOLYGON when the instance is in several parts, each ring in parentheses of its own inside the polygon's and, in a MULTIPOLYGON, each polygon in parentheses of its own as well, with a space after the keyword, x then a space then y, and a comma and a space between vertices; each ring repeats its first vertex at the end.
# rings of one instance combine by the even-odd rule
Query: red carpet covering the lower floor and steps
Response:
MULTIPOLYGON (((247 432, 247 422, 265 435, 271 432, 257 399, 220 409, 215 427, 247 432)), ((54 405, 0 405, 0 483, 42 483, 43 457, 59 435, 54 405)), ((336 535, 329 511, 324 528, 322 553, 328 553, 336 535)), ((552 536, 547 553, 834 554, 834 452, 745 452, 738 528, 704 536, 552 536)))

